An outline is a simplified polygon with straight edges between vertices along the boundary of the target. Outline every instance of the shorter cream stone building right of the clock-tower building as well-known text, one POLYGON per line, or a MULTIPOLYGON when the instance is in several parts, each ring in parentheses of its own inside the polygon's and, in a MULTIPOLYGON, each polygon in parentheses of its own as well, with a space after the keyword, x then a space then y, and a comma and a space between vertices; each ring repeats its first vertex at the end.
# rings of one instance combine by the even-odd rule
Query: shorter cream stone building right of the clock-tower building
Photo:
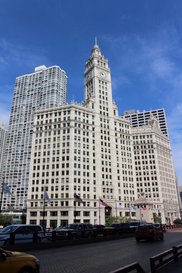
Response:
POLYGON ((172 223, 180 218, 180 204, 170 140, 153 114, 147 123, 131 129, 137 197, 143 193, 143 197, 152 200, 152 211, 161 215, 162 223, 168 223, 169 219, 172 223))

